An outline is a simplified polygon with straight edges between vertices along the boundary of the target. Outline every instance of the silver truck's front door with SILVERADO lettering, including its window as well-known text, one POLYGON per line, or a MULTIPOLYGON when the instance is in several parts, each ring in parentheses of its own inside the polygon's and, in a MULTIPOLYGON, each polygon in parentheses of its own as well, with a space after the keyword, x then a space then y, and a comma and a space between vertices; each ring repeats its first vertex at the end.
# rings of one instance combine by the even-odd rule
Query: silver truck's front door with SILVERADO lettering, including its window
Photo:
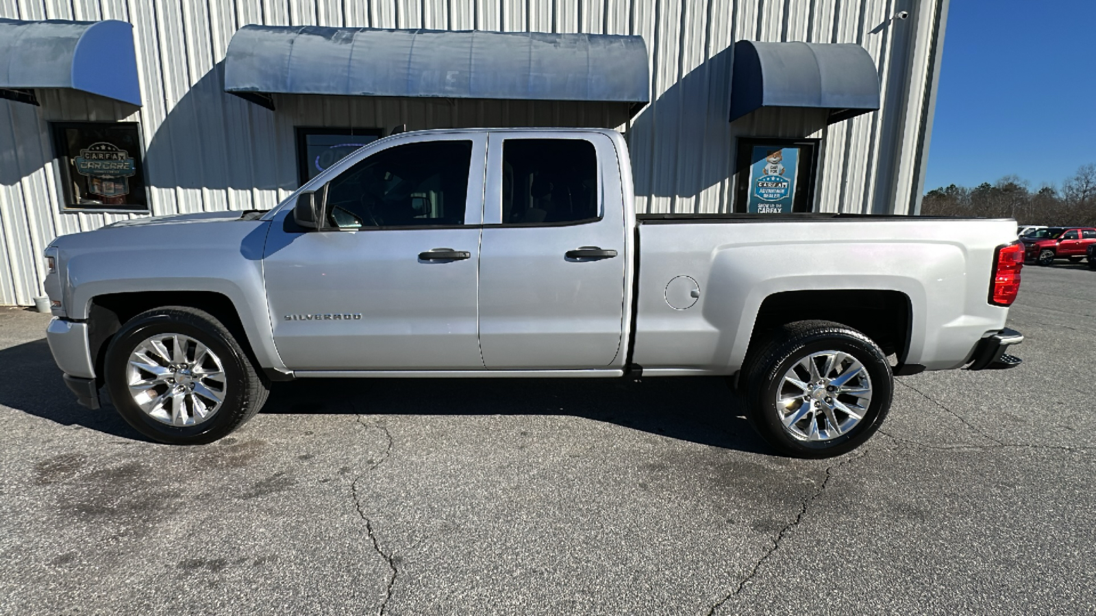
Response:
POLYGON ((319 229, 297 228, 292 212, 274 220, 264 276, 287 367, 483 368, 486 150, 486 134, 408 136, 336 166, 319 229))

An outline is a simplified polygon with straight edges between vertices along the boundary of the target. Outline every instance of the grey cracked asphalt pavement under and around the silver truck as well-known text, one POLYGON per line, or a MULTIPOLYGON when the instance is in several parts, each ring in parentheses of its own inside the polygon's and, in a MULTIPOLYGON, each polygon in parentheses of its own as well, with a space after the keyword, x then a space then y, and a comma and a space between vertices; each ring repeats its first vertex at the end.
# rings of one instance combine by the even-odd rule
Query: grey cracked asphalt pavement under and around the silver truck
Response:
POLYGON ((1094 614, 1096 272, 1023 275, 1021 366, 812 461, 717 378, 276 384, 159 445, 0 308, 0 614, 1094 614))

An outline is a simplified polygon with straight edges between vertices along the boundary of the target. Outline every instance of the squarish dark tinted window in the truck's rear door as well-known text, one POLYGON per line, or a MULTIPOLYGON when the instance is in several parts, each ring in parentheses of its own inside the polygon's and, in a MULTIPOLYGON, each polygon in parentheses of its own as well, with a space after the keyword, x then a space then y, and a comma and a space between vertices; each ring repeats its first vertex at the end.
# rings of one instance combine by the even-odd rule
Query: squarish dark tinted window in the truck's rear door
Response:
POLYGON ((585 139, 506 139, 502 224, 550 225, 598 218, 597 155, 585 139))

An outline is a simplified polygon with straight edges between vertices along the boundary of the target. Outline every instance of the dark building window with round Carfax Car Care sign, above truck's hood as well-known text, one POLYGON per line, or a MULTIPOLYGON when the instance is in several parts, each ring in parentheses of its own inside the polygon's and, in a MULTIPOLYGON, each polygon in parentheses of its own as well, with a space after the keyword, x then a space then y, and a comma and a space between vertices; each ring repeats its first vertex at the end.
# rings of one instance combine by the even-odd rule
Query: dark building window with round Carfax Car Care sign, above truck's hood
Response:
POLYGON ((136 122, 50 125, 66 209, 148 212, 136 122))

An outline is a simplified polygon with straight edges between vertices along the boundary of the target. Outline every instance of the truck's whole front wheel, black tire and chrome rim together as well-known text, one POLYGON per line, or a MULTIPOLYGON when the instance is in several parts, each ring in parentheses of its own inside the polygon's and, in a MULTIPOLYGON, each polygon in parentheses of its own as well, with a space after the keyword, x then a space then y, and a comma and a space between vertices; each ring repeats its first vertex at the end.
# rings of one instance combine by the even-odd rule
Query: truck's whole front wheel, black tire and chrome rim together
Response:
POLYGON ((183 306, 134 317, 106 351, 106 387, 126 422, 161 443, 216 441, 266 401, 265 379, 213 315, 183 306))

